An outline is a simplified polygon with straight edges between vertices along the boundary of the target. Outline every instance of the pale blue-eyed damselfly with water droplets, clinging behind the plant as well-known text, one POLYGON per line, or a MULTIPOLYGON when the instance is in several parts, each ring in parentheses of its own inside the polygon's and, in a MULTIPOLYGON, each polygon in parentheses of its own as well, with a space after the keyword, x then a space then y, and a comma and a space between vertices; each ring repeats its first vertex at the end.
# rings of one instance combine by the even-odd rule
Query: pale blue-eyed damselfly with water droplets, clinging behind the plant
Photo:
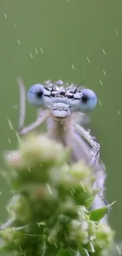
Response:
POLYGON ((72 161, 83 159, 95 172, 94 188, 100 191, 94 200, 94 208, 107 202, 102 193, 105 185, 105 168, 100 161, 100 144, 89 131, 83 128, 86 113, 97 105, 94 91, 83 83, 64 83, 62 80, 43 84, 35 83, 27 93, 28 102, 37 109, 36 120, 24 126, 26 115, 26 90, 22 78, 17 78, 20 91, 19 134, 26 135, 46 122, 46 135, 72 150, 72 161))

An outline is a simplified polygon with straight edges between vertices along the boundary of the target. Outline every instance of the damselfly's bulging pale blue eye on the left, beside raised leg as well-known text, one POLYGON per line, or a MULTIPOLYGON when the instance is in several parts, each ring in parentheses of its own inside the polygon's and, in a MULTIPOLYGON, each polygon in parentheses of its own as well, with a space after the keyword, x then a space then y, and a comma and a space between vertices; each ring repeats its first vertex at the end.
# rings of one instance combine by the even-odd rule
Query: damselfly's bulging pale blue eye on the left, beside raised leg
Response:
POLYGON ((28 90, 28 102, 35 107, 43 106, 44 87, 42 84, 35 84, 28 90))

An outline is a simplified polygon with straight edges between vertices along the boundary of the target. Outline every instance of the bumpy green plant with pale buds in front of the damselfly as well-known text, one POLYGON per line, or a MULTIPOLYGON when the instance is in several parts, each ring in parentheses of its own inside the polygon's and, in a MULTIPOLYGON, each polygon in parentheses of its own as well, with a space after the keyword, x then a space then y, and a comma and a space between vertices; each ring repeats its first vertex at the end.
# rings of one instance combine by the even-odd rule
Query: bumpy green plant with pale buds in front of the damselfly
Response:
MULTIPOLYGON (((109 206, 91 210, 95 177, 70 150, 44 135, 24 137, 6 153, 6 177, 13 187, 1 226, 1 250, 15 256, 108 255, 114 232, 101 223, 109 206)), ((5 173, 5 171, 4 171, 5 173)))

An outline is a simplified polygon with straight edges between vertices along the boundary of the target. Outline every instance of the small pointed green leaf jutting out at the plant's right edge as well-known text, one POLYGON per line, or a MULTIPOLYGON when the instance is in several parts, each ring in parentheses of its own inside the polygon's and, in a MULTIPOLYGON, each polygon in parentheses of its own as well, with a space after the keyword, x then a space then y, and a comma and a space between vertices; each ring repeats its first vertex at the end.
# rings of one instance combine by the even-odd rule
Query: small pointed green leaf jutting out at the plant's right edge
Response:
POLYGON ((109 210, 111 210, 111 206, 113 206, 115 202, 112 202, 108 206, 99 208, 97 210, 91 210, 90 212, 91 221, 101 221, 102 218, 105 217, 105 214, 108 213, 109 210))

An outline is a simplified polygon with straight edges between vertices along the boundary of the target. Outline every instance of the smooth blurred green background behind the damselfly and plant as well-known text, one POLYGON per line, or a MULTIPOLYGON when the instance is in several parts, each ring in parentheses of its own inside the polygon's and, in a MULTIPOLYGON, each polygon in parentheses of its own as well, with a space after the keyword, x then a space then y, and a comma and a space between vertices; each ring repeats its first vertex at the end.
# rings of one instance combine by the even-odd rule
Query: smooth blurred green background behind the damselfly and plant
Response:
MULTIPOLYGON (((88 127, 101 143, 108 174, 106 198, 116 200, 109 220, 117 239, 122 239, 121 13, 120 0, 0 0, 1 153, 17 145, 18 75, 27 88, 46 79, 85 80, 101 102, 88 127)), ((30 106, 27 120, 34 118, 30 106)), ((0 221, 4 221, 10 187, 2 177, 0 191, 0 221)))

